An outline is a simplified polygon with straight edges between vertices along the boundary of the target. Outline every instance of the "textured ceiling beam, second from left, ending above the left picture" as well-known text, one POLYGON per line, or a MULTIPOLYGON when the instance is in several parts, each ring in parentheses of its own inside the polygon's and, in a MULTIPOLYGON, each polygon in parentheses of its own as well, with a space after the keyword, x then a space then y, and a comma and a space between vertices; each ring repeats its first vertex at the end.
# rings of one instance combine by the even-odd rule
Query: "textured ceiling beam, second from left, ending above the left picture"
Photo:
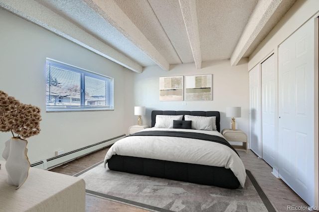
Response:
POLYGON ((169 71, 169 63, 152 45, 132 20, 114 0, 83 0, 96 13, 104 18, 117 31, 124 35, 144 54, 150 57, 161 69, 169 71))

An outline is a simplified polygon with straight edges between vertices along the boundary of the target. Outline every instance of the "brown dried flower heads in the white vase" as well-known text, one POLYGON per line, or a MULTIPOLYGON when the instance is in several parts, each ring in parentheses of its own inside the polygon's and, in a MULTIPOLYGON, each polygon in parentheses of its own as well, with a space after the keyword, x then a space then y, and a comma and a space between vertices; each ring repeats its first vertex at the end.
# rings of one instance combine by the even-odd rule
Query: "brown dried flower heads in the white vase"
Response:
POLYGON ((11 131, 13 138, 26 139, 40 133, 40 121, 40 108, 22 104, 0 90, 0 132, 11 131))

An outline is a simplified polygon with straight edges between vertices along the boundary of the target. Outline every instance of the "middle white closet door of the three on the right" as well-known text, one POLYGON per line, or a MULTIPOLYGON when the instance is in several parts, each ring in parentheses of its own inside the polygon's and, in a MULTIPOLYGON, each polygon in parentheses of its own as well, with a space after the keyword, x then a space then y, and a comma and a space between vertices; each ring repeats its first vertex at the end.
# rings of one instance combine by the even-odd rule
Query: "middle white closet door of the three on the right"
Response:
POLYGON ((274 57, 274 55, 270 56, 261 64, 262 150, 263 159, 277 169, 274 57))

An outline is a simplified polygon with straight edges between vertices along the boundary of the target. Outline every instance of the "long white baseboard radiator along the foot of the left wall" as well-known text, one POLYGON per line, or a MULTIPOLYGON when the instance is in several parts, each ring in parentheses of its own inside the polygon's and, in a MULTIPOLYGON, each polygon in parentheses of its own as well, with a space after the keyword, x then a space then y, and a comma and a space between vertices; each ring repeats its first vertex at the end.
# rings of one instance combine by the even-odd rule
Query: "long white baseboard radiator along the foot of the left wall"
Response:
POLYGON ((97 151, 99 149, 102 149, 104 147, 107 147, 109 145, 112 145, 116 141, 122 139, 126 135, 123 134, 121 136, 114 137, 112 139, 108 139, 106 141, 101 141, 98 143, 94 143, 79 149, 75 149, 73 151, 65 152, 63 154, 60 154, 58 156, 50 157, 47 159, 43 159, 41 161, 34 162, 30 164, 31 167, 39 168, 39 169, 50 169, 54 168, 56 166, 62 165, 64 163, 67 163, 71 160, 74 160, 78 157, 84 156, 86 154, 92 153, 94 151, 97 151))

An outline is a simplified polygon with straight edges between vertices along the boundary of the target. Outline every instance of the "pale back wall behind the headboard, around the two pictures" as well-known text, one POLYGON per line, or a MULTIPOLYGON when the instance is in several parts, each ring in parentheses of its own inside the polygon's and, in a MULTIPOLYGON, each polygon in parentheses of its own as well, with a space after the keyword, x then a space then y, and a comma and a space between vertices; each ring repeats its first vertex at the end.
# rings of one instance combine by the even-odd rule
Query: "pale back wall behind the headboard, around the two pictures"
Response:
MULTIPOLYGON (((151 126, 152 110, 216 110, 221 113, 221 129, 230 128, 231 118, 226 117, 226 107, 242 107, 242 117, 236 118, 238 129, 248 134, 249 126, 249 76, 247 60, 231 67, 229 60, 204 62, 202 69, 196 70, 194 64, 171 66, 170 71, 159 67, 146 68, 143 73, 135 74, 135 104, 146 106, 146 115, 142 117, 144 124, 151 126), (160 101, 159 77, 213 74, 212 101, 160 101), (186 105, 182 105, 186 102, 186 105)), ((137 117, 132 117, 137 121, 137 117)))

